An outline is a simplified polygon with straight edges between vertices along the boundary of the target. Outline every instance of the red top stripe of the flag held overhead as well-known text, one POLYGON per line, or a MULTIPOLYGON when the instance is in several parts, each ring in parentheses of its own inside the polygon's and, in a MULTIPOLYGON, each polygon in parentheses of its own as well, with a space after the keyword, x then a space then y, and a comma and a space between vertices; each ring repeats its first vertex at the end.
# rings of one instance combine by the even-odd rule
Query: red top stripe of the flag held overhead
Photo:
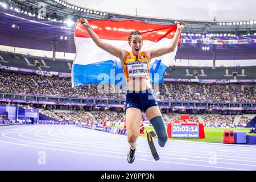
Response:
MULTIPOLYGON (((75 25, 75 36, 80 38, 90 38, 86 28, 77 20, 75 25)), ((143 40, 158 42, 163 38, 172 39, 176 32, 176 25, 160 25, 137 22, 135 20, 88 20, 90 26, 101 39, 126 40, 131 31, 141 31, 143 40)), ((178 45, 181 41, 179 37, 178 45)))

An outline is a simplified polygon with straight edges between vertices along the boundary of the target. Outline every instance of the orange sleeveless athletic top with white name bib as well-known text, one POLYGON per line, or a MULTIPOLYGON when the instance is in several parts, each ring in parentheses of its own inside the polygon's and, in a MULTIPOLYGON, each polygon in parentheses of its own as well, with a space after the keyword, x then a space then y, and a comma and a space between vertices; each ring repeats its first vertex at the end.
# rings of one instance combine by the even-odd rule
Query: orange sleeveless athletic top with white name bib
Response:
POLYGON ((131 78, 146 78, 149 80, 149 72, 148 57, 144 51, 140 52, 138 57, 134 56, 131 51, 127 53, 123 64, 126 82, 131 78))

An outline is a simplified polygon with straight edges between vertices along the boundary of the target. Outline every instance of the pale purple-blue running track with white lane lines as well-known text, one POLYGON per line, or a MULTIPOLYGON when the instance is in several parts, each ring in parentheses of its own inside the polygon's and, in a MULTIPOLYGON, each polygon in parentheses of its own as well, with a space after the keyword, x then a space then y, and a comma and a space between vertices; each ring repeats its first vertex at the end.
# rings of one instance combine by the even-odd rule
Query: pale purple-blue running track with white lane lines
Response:
POLYGON ((154 140, 160 160, 146 138, 138 138, 133 164, 127 163, 126 135, 71 125, 0 127, 0 170, 194 171, 256 170, 256 147, 238 144, 154 140))

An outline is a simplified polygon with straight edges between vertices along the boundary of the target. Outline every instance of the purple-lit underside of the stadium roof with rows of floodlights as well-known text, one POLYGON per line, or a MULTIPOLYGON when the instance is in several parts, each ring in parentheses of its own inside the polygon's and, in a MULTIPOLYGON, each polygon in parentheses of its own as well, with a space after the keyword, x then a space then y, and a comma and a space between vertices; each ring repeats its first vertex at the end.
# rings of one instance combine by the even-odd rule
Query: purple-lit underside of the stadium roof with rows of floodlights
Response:
MULTIPOLYGON (((67 7, 67 3, 64 6, 65 2, 62 3, 59 0, 47 0, 43 2, 9 0, 5 2, 6 8, 0 5, 0 45, 12 47, 52 51, 53 43, 55 43, 56 52, 76 53, 73 39, 73 23, 82 17, 108 20, 134 19, 147 23, 175 24, 175 20, 172 19, 154 19, 108 12, 105 12, 105 15, 101 15, 100 13, 102 12, 98 12, 97 10, 89 10, 88 13, 88 9, 85 9, 85 7, 82 8, 83 11, 81 11, 81 7, 80 10, 76 10, 67 7), (39 6, 40 3, 46 5, 44 14, 42 14, 44 10, 38 8, 41 7, 39 6), (91 11, 92 13, 90 13, 91 11), (66 37, 67 39, 65 39, 66 37)), ((255 20, 226 22, 225 25, 223 25, 223 22, 213 21, 184 21, 186 22, 186 26, 181 38, 196 40, 196 43, 194 41, 181 43, 176 54, 176 59, 210 60, 213 57, 213 52, 216 52, 216 60, 256 59, 255 20), (217 44, 205 44, 203 40, 208 38, 212 40, 234 39, 245 41, 239 42, 239 44, 238 42, 236 44, 219 44, 220 42, 217 44), (209 50, 203 50, 202 48, 204 46, 209 47, 209 50)))

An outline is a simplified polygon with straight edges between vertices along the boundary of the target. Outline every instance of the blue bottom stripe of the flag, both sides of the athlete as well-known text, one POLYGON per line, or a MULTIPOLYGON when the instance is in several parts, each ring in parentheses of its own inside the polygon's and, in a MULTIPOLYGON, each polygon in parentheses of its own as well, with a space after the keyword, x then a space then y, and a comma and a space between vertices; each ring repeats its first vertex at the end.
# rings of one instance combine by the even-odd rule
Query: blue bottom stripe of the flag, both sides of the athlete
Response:
MULTIPOLYGON (((161 63, 162 60, 155 60, 150 64, 150 78, 152 84, 163 83, 164 72, 167 66, 161 63)), ((73 65, 74 86, 85 84, 121 84, 126 85, 125 75, 120 62, 113 60, 101 61, 94 64, 73 65)))

